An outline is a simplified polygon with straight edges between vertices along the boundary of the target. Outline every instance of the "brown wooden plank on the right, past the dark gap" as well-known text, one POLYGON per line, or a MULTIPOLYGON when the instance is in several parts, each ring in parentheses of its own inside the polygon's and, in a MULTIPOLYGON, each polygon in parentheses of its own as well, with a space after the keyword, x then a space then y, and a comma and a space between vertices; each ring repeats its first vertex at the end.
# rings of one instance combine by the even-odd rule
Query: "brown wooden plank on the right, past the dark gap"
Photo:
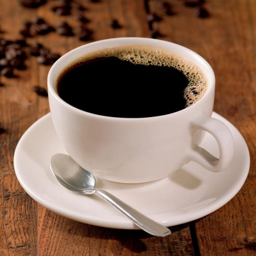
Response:
MULTIPOLYGON (((200 19, 183 1, 171 1, 176 15, 154 25, 163 39, 184 45, 211 64, 216 75, 214 110, 245 137, 251 168, 241 191, 225 206, 195 222, 201 255, 255 255, 256 97, 255 1, 206 1, 211 16, 200 19)), ((151 11, 161 15, 157 1, 151 11)), ((241 170, 242 171, 242 170, 241 170)))

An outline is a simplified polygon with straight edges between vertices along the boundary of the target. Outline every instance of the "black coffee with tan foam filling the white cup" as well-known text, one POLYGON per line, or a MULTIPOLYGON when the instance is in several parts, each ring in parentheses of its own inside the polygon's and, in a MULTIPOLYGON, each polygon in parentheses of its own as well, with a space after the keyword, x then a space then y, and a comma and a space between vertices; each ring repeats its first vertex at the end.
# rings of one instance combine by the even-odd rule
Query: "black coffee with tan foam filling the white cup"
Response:
POLYGON ((207 89, 201 70, 169 51, 144 46, 102 49, 64 69, 58 95, 78 109, 110 117, 165 115, 197 102, 207 89))

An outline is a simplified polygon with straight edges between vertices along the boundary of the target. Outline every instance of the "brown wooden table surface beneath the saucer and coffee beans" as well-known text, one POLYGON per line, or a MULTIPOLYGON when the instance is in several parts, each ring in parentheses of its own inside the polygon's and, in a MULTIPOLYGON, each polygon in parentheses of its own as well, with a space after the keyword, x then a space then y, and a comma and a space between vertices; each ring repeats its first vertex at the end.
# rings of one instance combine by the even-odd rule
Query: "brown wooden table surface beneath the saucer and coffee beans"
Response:
MULTIPOLYGON (((214 111, 231 121, 245 137, 251 154, 249 176, 239 193, 226 205, 197 221, 170 227, 173 235, 151 237, 143 231, 107 229, 59 216, 32 200, 14 173, 13 154, 24 131, 49 112, 48 99, 31 87, 47 87, 49 66, 34 57, 18 78, 5 79, 0 87, 0 255, 256 255, 256 1, 207 0, 210 17, 195 16, 184 1, 172 0, 175 15, 163 15, 158 2, 150 0, 102 0, 83 2, 91 19, 94 40, 114 37, 151 37, 147 12, 157 13, 161 22, 153 29, 161 39, 188 47, 203 56, 216 75, 214 111), (121 29, 112 29, 116 18, 121 29)), ((5 38, 18 37, 21 21, 38 15, 50 24, 67 20, 50 11, 55 1, 28 9, 16 0, 0 1, 0 24, 5 38)), ((76 37, 56 33, 37 36, 61 54, 82 45, 76 37)))

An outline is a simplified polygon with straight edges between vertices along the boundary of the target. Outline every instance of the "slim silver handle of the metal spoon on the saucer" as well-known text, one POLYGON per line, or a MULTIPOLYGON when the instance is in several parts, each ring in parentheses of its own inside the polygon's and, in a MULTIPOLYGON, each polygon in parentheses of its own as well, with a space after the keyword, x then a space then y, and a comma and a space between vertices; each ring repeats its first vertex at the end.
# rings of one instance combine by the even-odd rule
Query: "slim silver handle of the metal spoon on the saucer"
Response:
POLYGON ((104 198, 123 215, 128 217, 135 225, 137 225, 147 233, 150 233, 151 235, 155 235, 157 237, 165 237, 166 235, 171 234, 171 231, 167 227, 146 217, 142 213, 127 205, 125 202, 116 198, 114 195, 104 190, 96 190, 95 194, 104 198))

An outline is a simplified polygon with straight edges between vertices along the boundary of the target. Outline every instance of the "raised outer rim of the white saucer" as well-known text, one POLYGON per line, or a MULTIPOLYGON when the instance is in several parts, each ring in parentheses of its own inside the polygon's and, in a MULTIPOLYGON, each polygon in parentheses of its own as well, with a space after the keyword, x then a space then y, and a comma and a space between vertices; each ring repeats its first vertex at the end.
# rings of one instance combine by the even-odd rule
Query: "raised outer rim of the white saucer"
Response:
MULTIPOLYGON (((167 211, 166 213, 158 213, 158 214, 147 214, 148 217, 154 219, 155 221, 161 223, 164 226, 174 226, 174 225, 179 225, 183 223, 187 223, 190 221, 194 221, 195 219, 199 219, 201 217, 204 217, 210 213, 213 213, 215 210, 221 208, 223 205, 225 205, 227 202, 229 202, 241 189, 243 184, 246 181, 246 178, 249 173, 249 167, 250 167, 250 155, 249 155, 249 149, 246 144, 245 139, 241 135, 241 133, 238 131, 238 129, 230 123, 228 120, 226 120, 224 117, 221 115, 213 112, 212 115, 216 119, 222 119, 224 123, 229 123, 237 132, 238 135, 240 136, 241 143, 244 144, 243 147, 245 151, 245 155, 247 156, 246 162, 245 162, 245 167, 243 168, 243 171, 241 172, 241 175, 239 178, 236 180, 236 182, 233 183, 232 186, 230 186, 229 190, 225 192, 224 195, 221 195, 219 198, 215 199, 213 202, 209 203, 208 205, 200 208, 200 209, 195 209, 192 211, 188 211, 186 213, 183 213, 179 216, 171 216, 169 220, 163 220, 163 215, 168 214, 169 212, 167 211)), ((77 213, 74 212, 70 209, 63 208, 61 206, 55 205, 54 203, 51 203, 46 200, 42 200, 37 194, 34 194, 33 191, 30 190, 29 186, 27 186, 23 180, 22 180, 22 172, 19 172, 19 167, 18 167, 18 152, 19 152, 19 147, 23 144, 23 141, 25 141, 26 137, 29 136, 30 131, 33 130, 35 127, 40 126, 40 124, 44 121, 47 121, 50 118, 50 113, 44 115, 37 121, 35 121, 22 135, 20 138, 15 152, 14 152, 14 170, 16 177, 23 187, 23 189, 27 192, 27 194, 30 195, 35 201, 40 203, 42 206, 46 207, 47 209, 54 211, 55 213, 62 215, 64 217, 73 219, 75 221, 79 221, 82 223, 87 223, 91 225, 96 225, 96 226, 102 226, 102 227, 110 227, 110 228, 115 228, 115 229, 138 229, 136 225, 134 225, 132 222, 130 222, 128 219, 108 219, 108 218, 102 218, 102 217, 95 217, 91 215, 85 215, 84 213, 77 213)), ((57 136, 57 135, 56 135, 57 136)), ((241 144, 240 143, 240 144, 241 144)))

